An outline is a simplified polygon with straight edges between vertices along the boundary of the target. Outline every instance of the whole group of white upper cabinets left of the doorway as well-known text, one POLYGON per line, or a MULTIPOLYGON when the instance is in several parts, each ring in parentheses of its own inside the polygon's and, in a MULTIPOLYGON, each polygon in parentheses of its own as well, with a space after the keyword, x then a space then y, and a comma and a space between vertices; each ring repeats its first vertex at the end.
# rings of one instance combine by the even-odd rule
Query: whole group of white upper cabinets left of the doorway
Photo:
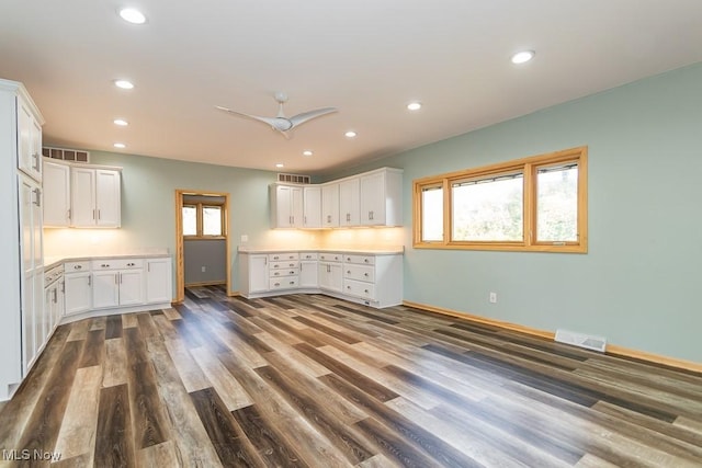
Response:
POLYGON ((121 168, 46 158, 44 168, 45 227, 121 227, 121 168))

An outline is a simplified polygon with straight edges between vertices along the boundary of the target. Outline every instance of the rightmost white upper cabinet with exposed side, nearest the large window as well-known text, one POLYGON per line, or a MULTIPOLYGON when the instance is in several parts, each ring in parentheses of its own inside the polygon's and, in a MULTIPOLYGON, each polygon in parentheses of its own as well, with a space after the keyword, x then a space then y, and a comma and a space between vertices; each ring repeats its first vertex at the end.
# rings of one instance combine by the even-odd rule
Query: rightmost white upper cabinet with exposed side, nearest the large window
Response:
POLYGON ((403 225, 403 171, 384 168, 361 174, 361 225, 403 225))

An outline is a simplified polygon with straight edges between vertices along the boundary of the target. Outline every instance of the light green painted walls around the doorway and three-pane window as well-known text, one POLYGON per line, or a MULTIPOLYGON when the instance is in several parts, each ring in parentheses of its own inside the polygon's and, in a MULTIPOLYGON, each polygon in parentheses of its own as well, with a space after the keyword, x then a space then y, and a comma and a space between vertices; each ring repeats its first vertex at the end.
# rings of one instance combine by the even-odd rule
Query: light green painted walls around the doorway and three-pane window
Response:
MULTIPOLYGON (((587 254, 432 251, 405 230, 405 299, 702 362, 702 65, 620 87, 329 178, 382 165, 411 181, 565 148, 589 147, 587 254), (488 303, 488 293, 498 303, 488 303)), ((93 152, 124 168, 123 229, 135 247, 174 249, 173 191, 231 194, 239 236, 269 236, 274 173, 93 152)), ((236 278, 235 259, 231 265, 236 278)), ((234 289, 236 289, 236 281, 234 289)))

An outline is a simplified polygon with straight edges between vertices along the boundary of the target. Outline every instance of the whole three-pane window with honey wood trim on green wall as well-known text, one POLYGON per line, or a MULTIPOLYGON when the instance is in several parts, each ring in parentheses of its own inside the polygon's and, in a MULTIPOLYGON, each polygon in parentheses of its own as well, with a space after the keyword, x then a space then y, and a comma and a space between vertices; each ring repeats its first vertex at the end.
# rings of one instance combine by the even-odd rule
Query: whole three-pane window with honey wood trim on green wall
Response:
POLYGON ((414 246, 587 252, 587 147, 414 182, 414 246))

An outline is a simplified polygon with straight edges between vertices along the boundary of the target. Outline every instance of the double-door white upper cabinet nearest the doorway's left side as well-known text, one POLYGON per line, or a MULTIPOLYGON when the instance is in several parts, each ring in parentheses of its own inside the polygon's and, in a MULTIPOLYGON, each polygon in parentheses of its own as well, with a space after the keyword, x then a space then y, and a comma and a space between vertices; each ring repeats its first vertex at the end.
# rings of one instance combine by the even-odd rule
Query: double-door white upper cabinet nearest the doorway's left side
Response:
POLYGON ((118 228, 122 224, 121 172, 71 168, 71 226, 118 228))

